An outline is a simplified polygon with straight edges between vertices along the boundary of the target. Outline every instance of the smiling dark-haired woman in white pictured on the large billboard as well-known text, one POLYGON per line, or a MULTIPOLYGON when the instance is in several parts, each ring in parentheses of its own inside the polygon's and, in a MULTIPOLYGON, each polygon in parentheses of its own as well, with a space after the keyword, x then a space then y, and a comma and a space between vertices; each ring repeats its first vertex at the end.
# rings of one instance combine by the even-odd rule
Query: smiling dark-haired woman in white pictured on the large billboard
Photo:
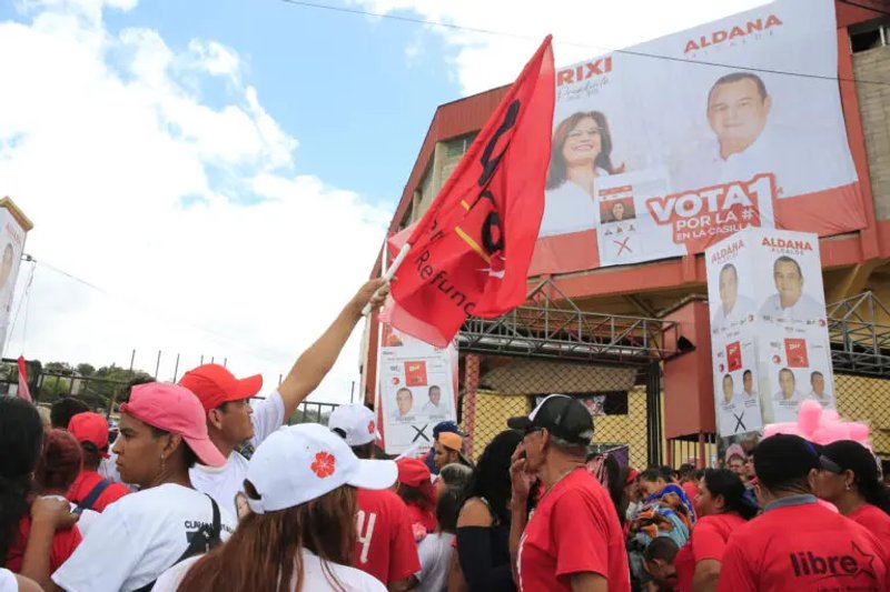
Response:
POLYGON ((621 170, 612 164, 612 134, 605 114, 580 111, 561 121, 553 132, 540 234, 593 228, 594 180, 621 170))

